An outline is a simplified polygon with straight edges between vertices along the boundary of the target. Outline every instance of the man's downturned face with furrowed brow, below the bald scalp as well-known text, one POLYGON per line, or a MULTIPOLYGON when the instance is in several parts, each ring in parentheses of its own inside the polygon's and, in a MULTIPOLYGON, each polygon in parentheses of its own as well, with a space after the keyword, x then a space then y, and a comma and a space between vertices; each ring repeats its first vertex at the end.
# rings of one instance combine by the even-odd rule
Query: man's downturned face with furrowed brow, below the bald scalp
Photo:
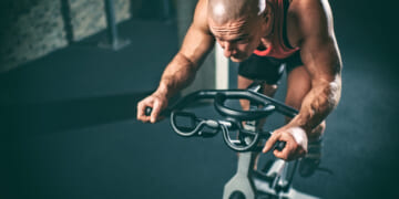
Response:
POLYGON ((226 57, 233 62, 242 62, 259 45, 263 28, 256 20, 242 19, 217 24, 208 19, 211 32, 223 48, 226 57))

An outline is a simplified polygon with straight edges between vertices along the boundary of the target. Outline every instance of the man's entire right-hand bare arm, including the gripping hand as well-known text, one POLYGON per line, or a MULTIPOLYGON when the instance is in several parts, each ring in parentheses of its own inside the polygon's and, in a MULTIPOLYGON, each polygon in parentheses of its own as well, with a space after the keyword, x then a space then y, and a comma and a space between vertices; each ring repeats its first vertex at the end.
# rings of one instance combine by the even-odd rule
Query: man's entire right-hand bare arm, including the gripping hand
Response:
POLYGON ((307 153, 313 130, 336 107, 341 91, 341 60, 334 34, 332 15, 327 0, 293 0, 287 20, 288 40, 300 48, 300 56, 310 75, 311 88, 301 102, 299 114, 276 129, 266 142, 264 153, 277 140, 286 142, 278 158, 291 160, 307 153))

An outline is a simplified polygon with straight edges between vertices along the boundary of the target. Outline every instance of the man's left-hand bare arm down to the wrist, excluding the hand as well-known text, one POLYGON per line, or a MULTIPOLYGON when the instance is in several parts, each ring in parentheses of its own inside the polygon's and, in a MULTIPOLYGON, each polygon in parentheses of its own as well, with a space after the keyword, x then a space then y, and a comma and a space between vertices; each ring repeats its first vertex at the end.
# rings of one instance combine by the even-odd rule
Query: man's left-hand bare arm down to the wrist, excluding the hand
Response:
POLYGON ((157 92, 166 97, 193 82, 196 71, 214 45, 206 21, 206 3, 207 0, 198 1, 183 45, 162 75, 157 92))

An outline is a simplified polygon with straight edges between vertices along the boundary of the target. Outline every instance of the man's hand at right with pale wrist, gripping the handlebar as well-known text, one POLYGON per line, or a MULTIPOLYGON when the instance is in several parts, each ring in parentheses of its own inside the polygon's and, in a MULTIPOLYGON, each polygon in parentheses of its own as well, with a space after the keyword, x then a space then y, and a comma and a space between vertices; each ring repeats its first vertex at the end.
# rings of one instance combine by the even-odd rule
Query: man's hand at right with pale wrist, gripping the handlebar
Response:
POLYGON ((289 161, 304 157, 307 153, 308 138, 306 132, 300 127, 282 127, 275 130, 262 151, 267 153, 270 150, 277 140, 286 142, 282 151, 273 151, 277 158, 289 161))

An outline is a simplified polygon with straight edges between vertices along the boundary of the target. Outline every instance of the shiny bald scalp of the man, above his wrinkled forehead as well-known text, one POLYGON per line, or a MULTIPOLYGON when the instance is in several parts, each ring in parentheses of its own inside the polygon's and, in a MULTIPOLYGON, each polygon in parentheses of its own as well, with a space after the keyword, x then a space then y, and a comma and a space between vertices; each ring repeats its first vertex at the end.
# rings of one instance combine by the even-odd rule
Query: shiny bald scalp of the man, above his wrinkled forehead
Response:
POLYGON ((223 24, 231 20, 260 15, 266 0, 208 0, 208 18, 223 24))

